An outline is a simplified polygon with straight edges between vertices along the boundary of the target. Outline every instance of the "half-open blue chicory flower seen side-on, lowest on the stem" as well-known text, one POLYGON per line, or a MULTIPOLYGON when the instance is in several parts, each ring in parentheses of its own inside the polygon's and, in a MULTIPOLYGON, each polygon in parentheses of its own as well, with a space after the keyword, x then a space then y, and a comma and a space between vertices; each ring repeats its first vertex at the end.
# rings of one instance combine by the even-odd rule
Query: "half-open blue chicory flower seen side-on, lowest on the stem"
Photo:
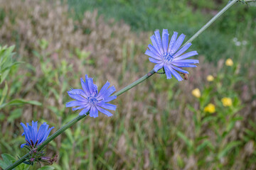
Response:
POLYGON ((21 148, 23 148, 25 145, 28 145, 32 148, 40 145, 43 141, 46 140, 48 135, 50 134, 50 130, 52 130, 54 127, 49 128, 49 125, 46 123, 43 123, 43 125, 40 126, 38 130, 38 122, 32 121, 32 126, 29 125, 29 123, 21 123, 21 126, 23 127, 23 135, 25 135, 26 143, 21 145, 21 148), (27 125, 27 126, 26 126, 27 125), (49 128, 49 129, 48 129, 49 128))

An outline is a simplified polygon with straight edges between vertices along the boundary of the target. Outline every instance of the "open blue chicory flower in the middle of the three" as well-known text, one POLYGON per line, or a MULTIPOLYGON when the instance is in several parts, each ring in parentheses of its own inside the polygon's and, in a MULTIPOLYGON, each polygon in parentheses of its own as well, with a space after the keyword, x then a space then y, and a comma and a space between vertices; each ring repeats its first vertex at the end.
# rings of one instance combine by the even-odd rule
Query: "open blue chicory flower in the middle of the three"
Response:
POLYGON ((71 89, 68 91, 68 95, 74 98, 75 101, 66 103, 66 107, 78 106, 77 108, 73 108, 73 111, 82 108, 79 115, 86 115, 90 111, 90 117, 93 118, 98 117, 98 111, 107 116, 112 116, 112 113, 105 109, 115 111, 117 108, 117 106, 107 103, 117 98, 117 96, 110 96, 115 91, 114 86, 107 89, 110 86, 110 83, 107 81, 98 93, 97 86, 93 84, 92 78, 88 78, 87 75, 85 75, 85 81, 81 78, 81 84, 82 89, 71 89))

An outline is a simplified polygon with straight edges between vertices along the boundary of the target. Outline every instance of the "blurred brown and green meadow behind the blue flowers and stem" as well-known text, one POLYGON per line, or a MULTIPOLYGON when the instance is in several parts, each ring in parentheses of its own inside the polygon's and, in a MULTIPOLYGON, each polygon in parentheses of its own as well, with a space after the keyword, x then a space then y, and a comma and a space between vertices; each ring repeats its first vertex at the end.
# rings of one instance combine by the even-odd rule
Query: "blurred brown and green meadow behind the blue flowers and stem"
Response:
MULTIPOLYGON (((66 91, 80 89, 80 77, 122 89, 154 67, 144 55, 154 30, 188 40, 227 3, 0 0, 0 154, 26 153, 21 122, 47 122, 55 132, 75 118, 66 91)), ((256 169, 255 13, 236 3, 193 41, 200 64, 188 81, 156 74, 113 101, 111 118, 87 117, 50 142, 52 166, 256 169)))

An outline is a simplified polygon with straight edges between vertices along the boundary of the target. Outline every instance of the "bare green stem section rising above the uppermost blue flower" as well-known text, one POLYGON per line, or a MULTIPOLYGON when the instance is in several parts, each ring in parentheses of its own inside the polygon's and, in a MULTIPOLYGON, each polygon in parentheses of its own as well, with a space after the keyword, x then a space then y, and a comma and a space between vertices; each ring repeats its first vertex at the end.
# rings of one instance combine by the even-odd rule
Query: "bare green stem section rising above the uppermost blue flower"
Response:
POLYGON ((213 18, 211 18, 210 21, 206 23, 206 25, 204 25, 200 30, 198 30, 198 32, 195 33, 191 38, 189 38, 189 40, 182 46, 186 45, 188 42, 192 42, 195 38, 197 38, 198 35, 200 35, 204 30, 206 30, 206 28, 208 28, 210 24, 212 24, 216 19, 218 19, 225 11, 228 10, 228 8, 230 8, 230 6, 233 6, 233 4, 235 4, 235 2, 237 1, 238 0, 230 1, 230 3, 228 3, 222 10, 220 10, 215 16, 213 16, 213 18))

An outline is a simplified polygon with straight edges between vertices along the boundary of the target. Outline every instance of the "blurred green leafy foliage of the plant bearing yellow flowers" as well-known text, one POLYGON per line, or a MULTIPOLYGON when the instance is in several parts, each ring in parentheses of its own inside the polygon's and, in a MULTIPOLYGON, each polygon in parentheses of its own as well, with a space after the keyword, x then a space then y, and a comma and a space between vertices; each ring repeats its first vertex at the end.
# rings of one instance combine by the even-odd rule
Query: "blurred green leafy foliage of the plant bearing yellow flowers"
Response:
MULTIPOLYGON (((225 66, 221 72, 218 72, 215 79, 203 86, 203 93, 199 102, 199 110, 188 106, 190 111, 193 112, 193 121, 196 130, 196 137, 193 141, 183 135, 181 132, 177 132, 177 136, 180 137, 185 143, 188 153, 195 155, 201 154, 200 162, 198 166, 208 167, 208 164, 215 164, 216 167, 223 167, 223 164, 218 162, 225 157, 238 157, 240 152, 236 152, 239 147, 243 145, 243 141, 233 140, 232 133, 235 128, 235 124, 243 120, 241 115, 238 115, 238 111, 242 109, 238 93, 234 91, 235 84, 241 81, 242 77, 239 77, 238 64, 231 67, 225 66), (228 97, 232 100, 230 106, 224 106, 221 98, 228 97), (206 105, 208 103, 215 103, 216 106, 214 113, 206 111, 206 105), (210 133, 215 133, 215 139, 206 135, 204 128, 210 133), (230 142, 228 142, 230 141, 230 142), (208 157, 213 157, 209 162, 208 157)), ((228 159, 230 162, 227 164, 234 164, 233 159, 228 159)))

